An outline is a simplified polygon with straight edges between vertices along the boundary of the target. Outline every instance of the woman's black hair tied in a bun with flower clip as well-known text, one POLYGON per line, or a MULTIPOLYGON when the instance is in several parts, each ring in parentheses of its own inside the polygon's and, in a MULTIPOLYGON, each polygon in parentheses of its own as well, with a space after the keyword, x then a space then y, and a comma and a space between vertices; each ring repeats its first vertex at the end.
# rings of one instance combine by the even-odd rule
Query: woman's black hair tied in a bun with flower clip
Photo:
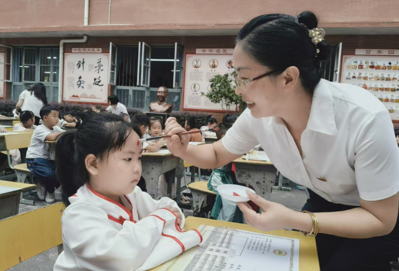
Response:
POLYGON ((261 15, 252 19, 238 33, 236 43, 260 64, 281 74, 286 68, 299 69, 306 93, 313 95, 322 77, 321 63, 330 58, 330 45, 314 45, 309 30, 317 27, 317 17, 306 11, 297 18, 284 14, 261 15), (318 52, 316 51, 318 50, 318 52))

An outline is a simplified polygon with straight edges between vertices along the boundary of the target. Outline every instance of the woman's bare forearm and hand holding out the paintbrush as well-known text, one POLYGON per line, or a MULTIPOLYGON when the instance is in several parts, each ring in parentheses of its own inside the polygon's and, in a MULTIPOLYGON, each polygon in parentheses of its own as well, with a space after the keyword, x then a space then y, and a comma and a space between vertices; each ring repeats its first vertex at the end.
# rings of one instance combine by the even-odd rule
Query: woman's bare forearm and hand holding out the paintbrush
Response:
POLYGON ((167 139, 168 149, 183 160, 200 168, 221 167, 242 154, 233 154, 226 150, 221 140, 213 144, 189 145, 190 135, 178 135, 186 132, 175 118, 166 121, 165 134, 172 137, 167 139))

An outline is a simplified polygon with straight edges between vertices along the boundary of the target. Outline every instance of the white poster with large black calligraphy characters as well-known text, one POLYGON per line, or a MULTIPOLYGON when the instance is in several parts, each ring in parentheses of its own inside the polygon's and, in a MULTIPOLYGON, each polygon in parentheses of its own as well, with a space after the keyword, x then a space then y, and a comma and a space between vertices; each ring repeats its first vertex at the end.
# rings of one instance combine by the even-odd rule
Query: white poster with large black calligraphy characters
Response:
POLYGON ((65 53, 62 100, 107 104, 109 54, 65 53))

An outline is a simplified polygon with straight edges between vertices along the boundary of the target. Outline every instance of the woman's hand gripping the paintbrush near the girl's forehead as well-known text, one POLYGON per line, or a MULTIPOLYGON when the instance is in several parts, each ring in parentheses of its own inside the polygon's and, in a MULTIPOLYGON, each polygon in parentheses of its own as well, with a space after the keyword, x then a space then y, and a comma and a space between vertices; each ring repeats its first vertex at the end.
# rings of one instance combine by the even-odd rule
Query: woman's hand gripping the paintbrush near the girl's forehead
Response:
POLYGON ((190 135, 178 135, 178 133, 186 132, 176 121, 176 118, 168 118, 165 123, 165 134, 172 137, 167 138, 167 147, 173 155, 181 157, 187 149, 190 135))

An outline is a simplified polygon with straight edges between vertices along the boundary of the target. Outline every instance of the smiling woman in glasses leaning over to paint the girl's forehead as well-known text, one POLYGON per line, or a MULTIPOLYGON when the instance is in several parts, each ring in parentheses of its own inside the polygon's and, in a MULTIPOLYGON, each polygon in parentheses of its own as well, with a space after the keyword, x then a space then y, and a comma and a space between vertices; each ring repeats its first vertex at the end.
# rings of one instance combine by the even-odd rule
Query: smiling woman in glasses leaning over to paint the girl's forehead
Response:
POLYGON ((364 89, 321 79, 329 58, 311 12, 253 19, 236 39, 235 93, 248 109, 222 140, 188 145, 168 119, 168 148, 201 168, 220 167, 261 144, 276 168, 309 189, 295 212, 257 195, 238 206, 261 230, 316 235, 322 271, 390 270, 399 256, 399 155, 384 105, 364 89), (318 234, 317 234, 318 233, 318 234))

